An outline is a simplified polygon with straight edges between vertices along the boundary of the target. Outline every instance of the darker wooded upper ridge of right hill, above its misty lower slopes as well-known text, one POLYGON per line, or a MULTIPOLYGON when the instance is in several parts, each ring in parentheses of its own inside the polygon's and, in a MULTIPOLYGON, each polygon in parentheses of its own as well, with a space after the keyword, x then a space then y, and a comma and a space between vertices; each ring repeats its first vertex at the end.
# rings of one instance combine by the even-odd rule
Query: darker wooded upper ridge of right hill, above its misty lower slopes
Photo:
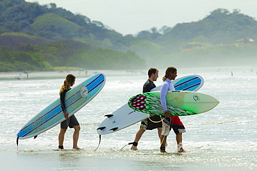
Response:
POLYGON ((257 39, 257 21, 241 14, 239 10, 229 12, 226 9, 217 9, 200 21, 176 24, 158 37, 158 42, 169 42, 170 39, 192 42, 197 37, 202 37, 203 42, 211 44, 233 44, 244 37, 257 39))

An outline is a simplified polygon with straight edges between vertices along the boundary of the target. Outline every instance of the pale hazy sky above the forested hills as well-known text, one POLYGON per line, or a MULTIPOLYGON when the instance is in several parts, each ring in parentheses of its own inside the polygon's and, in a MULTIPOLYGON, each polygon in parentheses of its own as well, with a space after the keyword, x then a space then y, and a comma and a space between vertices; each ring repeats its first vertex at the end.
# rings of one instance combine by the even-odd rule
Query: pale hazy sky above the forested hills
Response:
MULTIPOLYGON (((35 0, 26 0, 35 2, 35 0)), ((38 0, 101 21, 123 35, 204 19, 217 8, 257 19, 257 0, 38 0)))

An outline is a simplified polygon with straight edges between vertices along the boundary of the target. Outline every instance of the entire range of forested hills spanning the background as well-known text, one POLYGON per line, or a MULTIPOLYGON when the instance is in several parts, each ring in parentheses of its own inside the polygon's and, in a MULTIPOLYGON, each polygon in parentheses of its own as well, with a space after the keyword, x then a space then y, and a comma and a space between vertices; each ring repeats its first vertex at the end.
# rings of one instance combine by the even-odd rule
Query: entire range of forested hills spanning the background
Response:
POLYGON ((55 3, 0 0, 0 71, 247 65, 257 62, 255 40, 257 21, 240 10, 122 35, 55 3))

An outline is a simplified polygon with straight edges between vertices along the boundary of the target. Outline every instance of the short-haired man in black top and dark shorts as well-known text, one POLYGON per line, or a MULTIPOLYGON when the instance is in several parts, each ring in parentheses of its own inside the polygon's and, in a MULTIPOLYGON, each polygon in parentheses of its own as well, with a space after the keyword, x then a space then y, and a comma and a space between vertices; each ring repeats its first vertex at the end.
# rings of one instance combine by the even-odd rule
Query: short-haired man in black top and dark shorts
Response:
MULTIPOLYGON (((144 83, 143 86, 143 93, 149 92, 151 89, 154 89, 156 85, 154 84, 154 81, 158 78, 158 69, 151 68, 148 70, 148 80, 144 83)), ((162 123, 160 122, 160 116, 156 115, 150 115, 150 119, 146 118, 141 121, 140 129, 138 129, 138 132, 135 134, 135 140, 133 142, 133 145, 131 146, 131 150, 138 150, 138 141, 140 140, 142 134, 146 130, 152 130, 152 129, 158 129, 158 136, 160 138, 161 132, 162 132, 162 123), (152 122, 153 120, 154 122, 152 122), (156 122, 155 122, 156 121, 156 122)))

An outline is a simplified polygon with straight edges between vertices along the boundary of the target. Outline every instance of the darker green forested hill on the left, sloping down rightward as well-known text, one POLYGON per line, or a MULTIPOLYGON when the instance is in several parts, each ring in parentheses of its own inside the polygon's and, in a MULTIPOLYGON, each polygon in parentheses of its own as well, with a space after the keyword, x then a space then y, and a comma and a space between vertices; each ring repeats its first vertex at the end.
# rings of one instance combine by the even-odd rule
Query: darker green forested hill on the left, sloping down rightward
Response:
POLYGON ((40 6, 24 0, 0 0, 0 34, 0 71, 145 67, 144 60, 132 51, 114 51, 120 33, 54 3, 40 6))

